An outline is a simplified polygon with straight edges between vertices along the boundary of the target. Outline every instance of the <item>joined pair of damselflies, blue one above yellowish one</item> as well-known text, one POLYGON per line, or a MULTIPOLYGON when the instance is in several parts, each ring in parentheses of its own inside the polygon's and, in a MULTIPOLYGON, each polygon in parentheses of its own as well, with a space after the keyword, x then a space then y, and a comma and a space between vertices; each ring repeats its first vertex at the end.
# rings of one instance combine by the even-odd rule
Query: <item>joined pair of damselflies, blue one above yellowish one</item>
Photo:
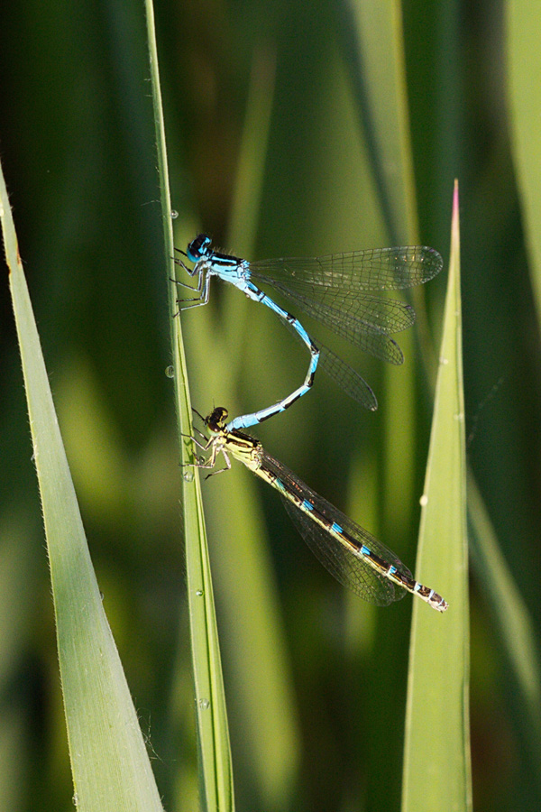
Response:
POLYGON ((442 596, 419 584, 390 549, 268 455, 258 440, 239 430, 285 411, 306 394, 314 383, 318 364, 362 406, 372 411, 377 408, 376 397, 362 376, 310 337, 298 318, 261 291, 255 281, 273 287, 286 299, 296 302, 307 315, 371 355, 391 364, 401 364, 402 352, 390 335, 413 324, 414 310, 402 301, 374 296, 374 292, 405 289, 429 281, 443 267, 440 254, 433 248, 416 246, 249 263, 215 252, 210 237, 204 234, 188 245, 186 254, 181 253, 194 263, 193 267, 189 268, 182 260, 176 262, 197 279, 197 285, 177 281, 196 293, 193 299, 178 300, 179 309, 206 304, 211 277, 216 276, 275 312, 310 353, 304 383, 281 401, 229 422, 226 422, 228 414, 223 407, 202 418, 210 438, 199 432, 205 443, 197 438, 192 440, 210 454, 207 459, 196 458, 195 465, 214 467, 217 455, 221 454, 226 466, 214 472, 220 473, 230 467, 231 455, 271 484, 280 492, 286 510, 316 558, 338 581, 351 587, 364 600, 387 605, 408 591, 444 612, 448 604, 442 596))

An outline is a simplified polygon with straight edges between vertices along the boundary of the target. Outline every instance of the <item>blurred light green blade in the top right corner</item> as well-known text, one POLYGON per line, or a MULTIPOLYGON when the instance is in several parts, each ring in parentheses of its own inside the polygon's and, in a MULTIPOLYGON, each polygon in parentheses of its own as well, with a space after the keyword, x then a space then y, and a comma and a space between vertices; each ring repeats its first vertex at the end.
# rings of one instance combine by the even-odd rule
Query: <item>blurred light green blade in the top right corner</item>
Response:
POLYGON ((509 124, 527 237, 537 318, 541 324, 541 121, 539 76, 541 5, 513 0, 507 9, 509 124))

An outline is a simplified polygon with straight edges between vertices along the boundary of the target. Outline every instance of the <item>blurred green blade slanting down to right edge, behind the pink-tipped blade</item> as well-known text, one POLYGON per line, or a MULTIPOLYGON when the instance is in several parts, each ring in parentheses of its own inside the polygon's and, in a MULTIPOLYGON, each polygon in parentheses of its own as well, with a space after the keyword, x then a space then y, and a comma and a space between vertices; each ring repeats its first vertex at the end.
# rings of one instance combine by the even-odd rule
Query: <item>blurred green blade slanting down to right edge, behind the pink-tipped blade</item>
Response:
MULTIPOLYGON (((491 519, 472 474, 468 477, 472 561, 518 684, 518 713, 532 751, 541 762, 541 664, 535 626, 503 557, 491 519)), ((538 777, 537 777, 538 779, 538 777)))

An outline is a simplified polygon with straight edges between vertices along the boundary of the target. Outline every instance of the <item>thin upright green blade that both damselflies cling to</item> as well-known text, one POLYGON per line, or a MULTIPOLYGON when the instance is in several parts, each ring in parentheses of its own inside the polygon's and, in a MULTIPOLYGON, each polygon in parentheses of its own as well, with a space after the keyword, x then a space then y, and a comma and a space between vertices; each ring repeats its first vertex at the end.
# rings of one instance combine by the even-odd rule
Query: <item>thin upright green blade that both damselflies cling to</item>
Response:
MULTIPOLYGON (((168 275, 174 278, 173 234, 170 219, 170 183, 163 109, 160 94, 158 51, 151 0, 146 2, 151 63, 151 90, 156 125, 161 207, 168 275)), ((175 388, 179 414, 181 463, 191 463, 193 444, 183 435, 193 434, 186 358, 178 310, 177 288, 170 282, 170 318, 173 339, 175 388)), ((186 547, 192 667, 195 682, 200 803, 208 812, 234 808, 233 771, 229 727, 225 708, 224 678, 215 618, 215 604, 206 543, 205 521, 198 471, 186 468, 183 477, 183 514, 186 547), (193 475, 192 475, 193 472, 193 475)))

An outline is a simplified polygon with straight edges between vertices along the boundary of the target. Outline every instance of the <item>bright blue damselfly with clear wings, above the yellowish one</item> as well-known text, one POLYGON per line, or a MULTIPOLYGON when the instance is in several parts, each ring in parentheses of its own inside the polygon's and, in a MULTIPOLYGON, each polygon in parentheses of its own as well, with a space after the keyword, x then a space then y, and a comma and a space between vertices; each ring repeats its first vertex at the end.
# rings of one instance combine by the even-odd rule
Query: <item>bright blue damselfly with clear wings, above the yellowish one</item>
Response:
POLYGON ((261 291, 259 284, 269 285, 286 299, 294 301, 308 316, 362 350, 391 364, 401 364, 404 356, 390 335, 410 327, 415 320, 415 312, 402 301, 383 299, 373 293, 422 284, 433 279, 443 267, 440 254, 425 246, 376 248, 347 254, 249 263, 236 256, 217 253, 206 234, 192 240, 186 254, 179 253, 194 264, 190 268, 182 260, 177 259, 176 263, 197 279, 195 287, 177 280, 177 284, 197 294, 194 299, 179 300, 179 309, 206 304, 210 280, 217 276, 235 285, 249 299, 270 308, 307 346, 310 353, 307 376, 302 386, 266 409, 231 420, 227 426, 229 430, 246 429, 288 409, 311 388, 318 364, 366 409, 374 411, 378 405, 364 378, 316 338, 310 337, 298 318, 261 291))

